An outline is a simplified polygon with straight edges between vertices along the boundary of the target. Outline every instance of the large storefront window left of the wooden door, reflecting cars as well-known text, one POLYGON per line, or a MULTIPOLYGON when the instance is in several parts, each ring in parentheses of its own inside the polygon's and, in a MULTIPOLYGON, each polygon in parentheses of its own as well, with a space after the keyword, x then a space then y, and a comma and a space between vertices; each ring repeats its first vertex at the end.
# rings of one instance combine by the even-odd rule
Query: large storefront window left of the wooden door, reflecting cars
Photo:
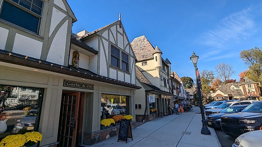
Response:
POLYGON ((0 141, 38 131, 44 89, 0 85, 0 90, 0 141))

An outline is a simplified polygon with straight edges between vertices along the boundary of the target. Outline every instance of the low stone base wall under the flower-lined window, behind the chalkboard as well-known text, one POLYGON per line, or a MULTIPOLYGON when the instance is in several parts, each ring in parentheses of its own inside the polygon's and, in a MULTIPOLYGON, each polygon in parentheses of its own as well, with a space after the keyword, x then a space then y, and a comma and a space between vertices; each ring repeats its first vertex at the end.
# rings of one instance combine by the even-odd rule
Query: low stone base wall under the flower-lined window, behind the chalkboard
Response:
MULTIPOLYGON (((135 122, 131 122, 131 128, 135 128, 135 122)), ((94 145, 98 142, 104 141, 110 137, 118 135, 119 126, 115 126, 112 128, 96 131, 93 133, 85 133, 84 132, 84 144, 85 145, 94 145)))

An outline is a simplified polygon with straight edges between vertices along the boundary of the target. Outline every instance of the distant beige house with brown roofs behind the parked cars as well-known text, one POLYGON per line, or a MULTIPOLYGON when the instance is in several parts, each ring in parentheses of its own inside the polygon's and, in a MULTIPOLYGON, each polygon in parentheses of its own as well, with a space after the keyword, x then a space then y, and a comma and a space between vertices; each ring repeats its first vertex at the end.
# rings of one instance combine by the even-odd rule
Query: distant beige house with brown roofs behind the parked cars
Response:
POLYGON ((258 100, 260 97, 257 88, 257 82, 245 77, 240 82, 227 83, 222 85, 213 95, 212 98, 217 100, 223 99, 252 99, 258 100))

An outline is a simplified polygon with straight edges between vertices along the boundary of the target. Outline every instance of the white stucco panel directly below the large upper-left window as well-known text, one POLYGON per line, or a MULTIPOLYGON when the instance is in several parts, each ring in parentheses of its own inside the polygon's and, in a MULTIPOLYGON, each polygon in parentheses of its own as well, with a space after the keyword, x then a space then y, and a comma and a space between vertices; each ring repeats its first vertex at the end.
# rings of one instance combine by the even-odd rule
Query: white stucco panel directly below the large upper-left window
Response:
POLYGON ((43 43, 16 33, 13 52, 40 59, 43 43))

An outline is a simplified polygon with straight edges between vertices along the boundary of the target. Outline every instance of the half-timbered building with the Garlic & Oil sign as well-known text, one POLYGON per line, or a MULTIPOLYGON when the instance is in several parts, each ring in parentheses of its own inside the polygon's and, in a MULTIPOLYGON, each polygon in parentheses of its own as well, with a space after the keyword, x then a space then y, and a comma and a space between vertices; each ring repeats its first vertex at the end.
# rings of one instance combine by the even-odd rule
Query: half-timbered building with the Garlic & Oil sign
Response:
POLYGON ((129 114, 135 122, 141 87, 121 21, 76 35, 66 0, 26 2, 0 0, 0 104, 11 116, 0 140, 38 131, 40 146, 92 145, 117 134, 118 126, 100 129, 106 116, 129 114), (104 115, 107 106, 121 111, 104 115))

